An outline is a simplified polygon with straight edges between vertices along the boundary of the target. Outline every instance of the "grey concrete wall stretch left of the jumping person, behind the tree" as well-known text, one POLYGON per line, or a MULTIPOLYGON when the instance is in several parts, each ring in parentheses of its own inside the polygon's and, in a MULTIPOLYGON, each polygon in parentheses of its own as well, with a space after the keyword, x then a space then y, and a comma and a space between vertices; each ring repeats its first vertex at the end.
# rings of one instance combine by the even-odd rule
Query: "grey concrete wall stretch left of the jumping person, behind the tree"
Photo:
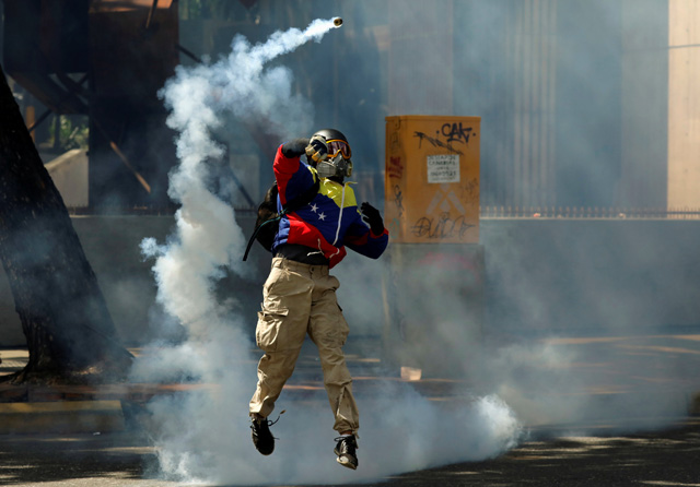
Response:
MULTIPOLYGON (((174 219, 170 216, 73 216, 72 222, 122 340, 129 345, 140 345, 156 336, 177 336, 182 330, 163 317, 155 302, 153 262, 144 261, 139 249, 147 237, 165 242, 174 219)), ((240 217, 246 235, 254 223, 252 216, 240 217)), ((235 299, 233 306, 247 316, 255 317, 259 308, 265 259, 266 251, 261 248, 254 249, 248 257, 250 265, 264 269, 254 273, 255 282, 226 277, 220 286, 222 294, 235 299)), ((0 347, 24 344, 12 293, 4 271, 0 270, 0 347)))

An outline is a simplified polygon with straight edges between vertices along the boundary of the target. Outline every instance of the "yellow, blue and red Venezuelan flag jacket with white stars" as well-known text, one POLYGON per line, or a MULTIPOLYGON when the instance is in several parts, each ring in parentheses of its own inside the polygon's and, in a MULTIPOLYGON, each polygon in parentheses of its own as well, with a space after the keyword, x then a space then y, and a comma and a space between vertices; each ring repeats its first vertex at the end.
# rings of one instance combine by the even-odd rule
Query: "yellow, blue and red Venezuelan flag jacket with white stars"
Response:
MULTIPOLYGON (((308 190, 318 179, 316 169, 300 157, 288 158, 280 145, 275 156, 275 178, 279 195, 278 211, 282 205, 308 190)), ((329 261, 329 268, 338 264, 347 254, 346 247, 362 256, 377 259, 386 249, 389 233, 372 233, 362 221, 354 191, 349 183, 320 179, 318 193, 302 209, 280 219, 280 229, 272 242, 272 253, 284 243, 298 243, 317 249, 329 261)))

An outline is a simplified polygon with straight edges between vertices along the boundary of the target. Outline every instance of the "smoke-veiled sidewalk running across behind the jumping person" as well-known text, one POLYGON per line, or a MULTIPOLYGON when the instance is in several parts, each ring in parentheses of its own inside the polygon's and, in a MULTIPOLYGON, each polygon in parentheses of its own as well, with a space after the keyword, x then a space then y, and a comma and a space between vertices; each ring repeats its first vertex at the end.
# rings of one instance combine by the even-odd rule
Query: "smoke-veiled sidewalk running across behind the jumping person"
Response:
MULTIPOLYGON (((512 337, 510 340, 513 340, 512 337)), ((504 337, 490 337, 503 345, 504 337)), ((470 392, 479 393, 482 384, 469 383, 458 378, 421 377, 407 381, 398 367, 382 359, 382 344, 376 337, 355 337, 346 347, 347 360, 353 376, 353 390, 358 397, 380 396, 387 381, 408 382, 420 395, 430 401, 470 401, 470 392)), ((548 391, 552 400, 564 396, 585 397, 586 405, 595 414, 605 412, 616 402, 634 404, 643 415, 653 415, 654 403, 672 405, 675 411, 700 414, 700 330, 684 333, 650 334, 639 336, 570 336, 538 338, 530 344, 547 348, 561 357, 578 357, 562 364, 547 364, 534 357, 533 364, 523 364, 518 373, 551 379, 556 389, 548 391), (575 377, 575 381, 561 378, 575 377), (583 379, 582 379, 583 378, 583 379)), ((136 355, 147 349, 132 349, 136 355)), ((253 357, 258 357, 255 352, 253 357)), ((0 349, 0 376, 20 370, 27 361, 25 349, 0 349)), ((253 359, 247 359, 254 368, 253 359)), ((0 406, 11 403, 38 404, 45 402, 102 402, 102 413, 110 411, 114 403, 143 405, 155 395, 183 394, 194 390, 212 389, 206 383, 128 383, 92 385, 27 387, 0 384, 0 406)), ((525 389, 523 385, 521 389, 525 389)), ((522 391, 521 391, 522 392, 522 391)), ((522 395, 522 394, 521 394, 522 395)), ((294 375, 284 388, 290 401, 327 401, 323 375, 316 349, 311 342, 304 344, 294 375)), ((527 399, 527 397, 526 397, 527 399)), ((509 402, 508 397, 504 397, 509 402)), ((30 409, 26 409, 30 411, 30 409)), ((7 413, 7 409, 5 409, 7 413)), ((12 412, 13 414, 16 412, 12 412)), ((102 414, 101 413, 101 414, 102 414)), ((2 414, 2 409, 0 409, 2 414)), ((43 413, 48 414, 48 413, 43 413)), ((105 413, 110 414, 110 413, 105 413)), ((8 416, 5 416, 7 418, 8 416)), ((559 424, 561 418, 551 418, 559 424)), ((604 420, 588 416, 590 420, 604 420)), ((622 418, 617 418, 622 419, 622 418)), ((528 419, 527 426, 546 427, 547 421, 528 419)), ((118 425, 118 421, 114 423, 118 425)), ((0 432, 2 432, 0 430, 0 432)))

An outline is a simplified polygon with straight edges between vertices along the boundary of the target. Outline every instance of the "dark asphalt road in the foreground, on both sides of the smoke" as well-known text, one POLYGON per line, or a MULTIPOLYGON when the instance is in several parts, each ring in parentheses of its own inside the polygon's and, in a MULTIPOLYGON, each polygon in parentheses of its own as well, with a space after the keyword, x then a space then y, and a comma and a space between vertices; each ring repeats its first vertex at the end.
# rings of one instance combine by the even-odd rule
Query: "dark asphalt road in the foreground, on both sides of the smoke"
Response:
MULTIPOLYGON (((700 418, 669 429, 586 437, 550 428, 502 456, 378 479, 372 486, 700 486, 700 418)), ((340 467, 339 467, 340 468, 340 467)), ((178 485, 160 480, 153 448, 135 432, 0 436, 0 485, 178 485)), ((223 487, 223 486, 222 486, 223 487)))

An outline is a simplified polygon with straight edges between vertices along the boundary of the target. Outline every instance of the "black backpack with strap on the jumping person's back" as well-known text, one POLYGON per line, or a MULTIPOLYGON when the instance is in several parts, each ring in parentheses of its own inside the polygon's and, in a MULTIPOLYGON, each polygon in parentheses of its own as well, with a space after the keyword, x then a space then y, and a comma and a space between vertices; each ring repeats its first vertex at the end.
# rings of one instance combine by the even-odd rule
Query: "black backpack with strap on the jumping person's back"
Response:
POLYGON ((302 206, 311 203, 311 200, 318 194, 320 180, 316 178, 311 188, 293 200, 288 201, 287 204, 282 206, 282 211, 278 213, 277 197, 279 190, 277 189, 277 181, 275 181, 272 186, 270 186, 270 189, 265 193, 265 198, 258 206, 258 217, 255 222, 255 229, 248 240, 248 246, 243 254, 243 260, 245 261, 248 258, 248 252, 250 251, 250 247, 253 247, 253 242, 255 240, 265 247, 266 250, 271 251, 272 242, 275 241, 275 236, 280 228, 280 219, 282 219, 282 216, 290 212, 295 212, 302 206))

